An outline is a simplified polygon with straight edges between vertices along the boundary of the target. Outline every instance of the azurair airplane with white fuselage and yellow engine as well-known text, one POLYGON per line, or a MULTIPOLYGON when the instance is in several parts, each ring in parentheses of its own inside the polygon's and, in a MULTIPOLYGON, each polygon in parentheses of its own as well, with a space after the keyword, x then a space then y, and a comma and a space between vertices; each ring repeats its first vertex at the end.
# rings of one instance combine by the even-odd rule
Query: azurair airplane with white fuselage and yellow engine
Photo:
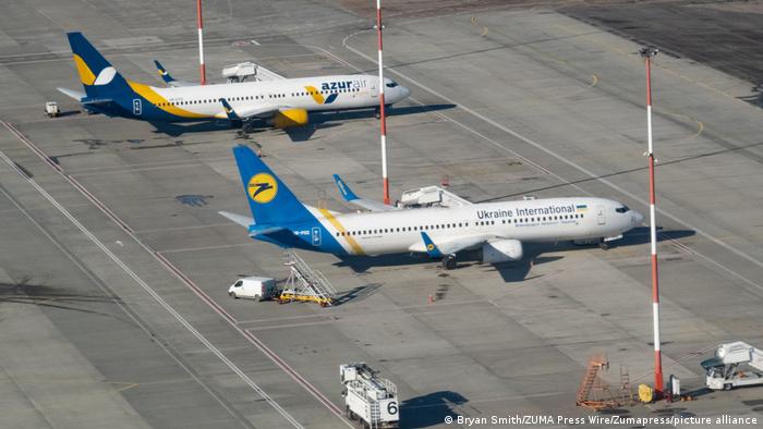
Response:
MULTIPOLYGON (((149 122, 228 120, 245 125, 253 120, 265 120, 284 128, 305 125, 308 111, 368 109, 379 103, 378 77, 372 75, 168 88, 138 84, 122 77, 82 33, 68 33, 66 36, 85 91, 58 89, 80 101, 88 111, 109 117, 149 122)), ((395 81, 385 79, 386 103, 396 103, 410 94, 395 81)))

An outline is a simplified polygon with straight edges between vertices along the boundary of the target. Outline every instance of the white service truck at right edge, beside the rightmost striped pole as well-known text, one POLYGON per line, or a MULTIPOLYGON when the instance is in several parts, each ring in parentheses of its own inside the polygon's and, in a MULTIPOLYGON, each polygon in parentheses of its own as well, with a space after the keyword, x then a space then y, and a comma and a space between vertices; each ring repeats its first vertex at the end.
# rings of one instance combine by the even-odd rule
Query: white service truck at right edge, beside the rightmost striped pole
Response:
POLYGON ((763 351, 743 341, 720 344, 715 357, 702 361, 712 390, 763 384, 763 351))

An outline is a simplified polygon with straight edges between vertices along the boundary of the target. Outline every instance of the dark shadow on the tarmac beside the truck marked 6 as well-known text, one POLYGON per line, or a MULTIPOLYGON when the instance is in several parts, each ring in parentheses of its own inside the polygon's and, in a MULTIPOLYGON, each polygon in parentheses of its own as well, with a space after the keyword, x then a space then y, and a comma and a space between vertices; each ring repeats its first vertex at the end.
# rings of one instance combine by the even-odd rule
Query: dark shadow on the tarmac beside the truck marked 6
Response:
POLYGON ((445 418, 458 418, 456 407, 469 402, 462 394, 449 390, 411 397, 400 403, 400 428, 428 428, 443 425, 445 418))

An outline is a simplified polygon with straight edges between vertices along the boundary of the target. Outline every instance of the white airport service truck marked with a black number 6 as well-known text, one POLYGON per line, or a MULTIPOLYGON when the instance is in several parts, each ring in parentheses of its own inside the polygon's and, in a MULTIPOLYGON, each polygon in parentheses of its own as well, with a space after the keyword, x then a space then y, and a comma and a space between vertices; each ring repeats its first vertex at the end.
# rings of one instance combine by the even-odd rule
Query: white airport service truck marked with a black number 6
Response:
POLYGON ((398 428, 398 388, 363 363, 339 366, 347 417, 364 428, 398 428))

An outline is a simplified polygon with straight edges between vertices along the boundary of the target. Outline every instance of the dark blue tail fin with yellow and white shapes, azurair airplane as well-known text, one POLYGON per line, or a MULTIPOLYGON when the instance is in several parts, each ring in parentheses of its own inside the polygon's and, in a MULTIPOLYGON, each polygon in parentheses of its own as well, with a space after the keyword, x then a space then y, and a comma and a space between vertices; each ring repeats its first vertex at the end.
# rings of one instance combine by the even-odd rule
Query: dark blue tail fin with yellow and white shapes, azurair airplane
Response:
POLYGON ((66 36, 69 45, 72 47, 80 81, 85 87, 87 97, 112 97, 117 94, 132 91, 124 77, 90 45, 82 33, 66 33, 66 36))

